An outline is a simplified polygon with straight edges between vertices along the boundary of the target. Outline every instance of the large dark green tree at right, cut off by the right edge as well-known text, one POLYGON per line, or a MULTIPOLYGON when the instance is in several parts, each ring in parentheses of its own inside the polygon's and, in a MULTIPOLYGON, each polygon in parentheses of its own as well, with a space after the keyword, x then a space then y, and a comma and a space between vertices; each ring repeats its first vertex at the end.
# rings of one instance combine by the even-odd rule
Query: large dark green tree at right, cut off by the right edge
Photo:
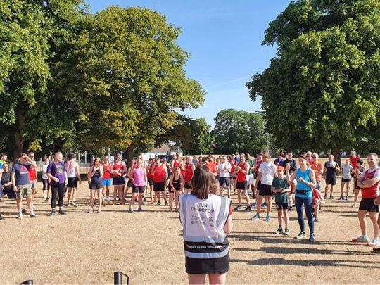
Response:
POLYGON ((338 156, 379 141, 380 1, 291 2, 262 44, 277 56, 247 86, 284 147, 338 156))

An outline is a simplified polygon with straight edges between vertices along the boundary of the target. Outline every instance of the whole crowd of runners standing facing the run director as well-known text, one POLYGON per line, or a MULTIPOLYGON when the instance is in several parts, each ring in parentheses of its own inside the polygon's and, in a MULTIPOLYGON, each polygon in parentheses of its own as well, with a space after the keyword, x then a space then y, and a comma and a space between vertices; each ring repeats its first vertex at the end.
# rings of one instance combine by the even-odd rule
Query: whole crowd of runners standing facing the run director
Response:
MULTIPOLYGON (((360 191, 358 218, 360 221, 361 235, 353 242, 365 242, 378 251, 379 244, 379 181, 380 171, 377 164, 377 156, 370 153, 367 156, 367 168, 362 159, 353 151, 350 158, 339 166, 330 155, 324 164, 319 162, 317 153, 308 151, 293 158, 293 153, 278 153, 272 162, 270 153, 262 153, 255 158, 249 153, 235 153, 231 156, 187 156, 185 158, 176 153, 172 160, 166 158, 151 158, 144 160, 141 155, 130 163, 122 161, 120 154, 115 156, 115 161, 110 163, 108 156, 103 160, 94 158, 87 173, 87 181, 90 189, 89 213, 96 211, 101 213, 104 205, 125 205, 127 194, 132 192, 129 199, 129 213, 134 212, 134 204, 137 203, 137 211, 142 211, 144 204, 167 205, 169 211, 179 211, 179 194, 190 194, 193 191, 191 184, 194 171, 201 166, 210 170, 219 196, 237 196, 237 205, 234 210, 248 212, 255 211, 251 218, 253 221, 270 221, 272 208, 277 210, 279 223, 276 234, 289 236, 289 213, 296 208, 300 232, 296 239, 304 239, 305 223, 303 211, 308 220, 310 242, 315 241, 315 222, 319 221, 318 213, 321 204, 329 199, 334 199, 334 186, 336 177, 342 175, 341 189, 338 200, 348 201, 348 193, 353 187, 355 193, 353 207, 357 207, 357 199, 360 191), (325 181, 322 190, 322 179, 325 181), (113 186, 113 191, 111 189, 113 186), (253 202, 251 203, 251 201, 253 202), (243 205, 245 207, 243 208, 243 205), (366 215, 369 215, 374 227, 374 238, 367 236, 366 215)), ((34 153, 22 153, 17 162, 13 163, 10 170, 6 154, 1 155, 0 176, 2 195, 15 198, 18 210, 18 218, 29 210, 30 217, 37 217, 34 213, 33 200, 37 194, 37 164, 34 161, 34 153), (24 207, 23 199, 27 205, 24 207)), ((65 215, 65 206, 78 207, 77 187, 81 184, 80 165, 76 156, 68 155, 63 160, 61 152, 55 153, 53 160, 46 157, 42 165, 42 194, 44 201, 51 203, 50 215, 65 215), (65 198, 67 202, 65 202, 65 198)), ((0 216, 1 218, 1 216, 0 216)))

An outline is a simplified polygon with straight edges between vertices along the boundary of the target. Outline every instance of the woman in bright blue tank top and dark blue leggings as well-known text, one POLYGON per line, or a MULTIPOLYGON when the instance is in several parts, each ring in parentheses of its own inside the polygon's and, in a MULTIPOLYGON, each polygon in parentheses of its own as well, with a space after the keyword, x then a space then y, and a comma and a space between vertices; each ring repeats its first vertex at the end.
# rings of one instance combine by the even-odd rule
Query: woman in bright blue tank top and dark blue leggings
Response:
POLYGON ((300 225, 300 233, 296 239, 305 238, 305 222, 303 221, 303 208, 305 207, 306 217, 308 217, 308 224, 310 229, 309 241, 315 242, 314 234, 314 220, 312 219, 312 189, 316 188, 315 174, 310 167, 308 167, 308 160, 305 156, 298 158, 300 167, 289 174, 290 165, 286 165, 286 179, 290 184, 295 178, 297 180, 296 186, 296 210, 298 216, 298 224, 300 225))

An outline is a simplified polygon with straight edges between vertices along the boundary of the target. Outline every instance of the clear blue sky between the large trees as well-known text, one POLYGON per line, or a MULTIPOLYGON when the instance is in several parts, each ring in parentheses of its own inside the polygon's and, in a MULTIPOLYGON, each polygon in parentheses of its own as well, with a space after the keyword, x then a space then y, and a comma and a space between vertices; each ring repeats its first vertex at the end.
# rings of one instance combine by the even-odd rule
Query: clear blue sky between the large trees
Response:
POLYGON ((178 44, 191 53, 187 77, 201 83, 205 103, 184 111, 214 125, 220 110, 234 108, 254 112, 260 101, 251 101, 245 83, 262 72, 276 49, 262 46, 268 23, 284 11, 288 0, 86 0, 91 11, 107 6, 141 6, 166 16, 182 28, 178 44))

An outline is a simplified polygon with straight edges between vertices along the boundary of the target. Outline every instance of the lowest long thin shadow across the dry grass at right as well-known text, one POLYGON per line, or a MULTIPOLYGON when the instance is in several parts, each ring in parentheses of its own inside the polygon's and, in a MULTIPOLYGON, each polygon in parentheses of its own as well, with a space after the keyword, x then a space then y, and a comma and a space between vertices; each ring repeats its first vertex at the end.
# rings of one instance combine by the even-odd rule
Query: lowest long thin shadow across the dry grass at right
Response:
POLYGON ((353 267, 380 269, 372 261, 362 260, 286 260, 284 258, 260 258, 258 260, 231 259, 230 262, 243 262, 247 265, 293 265, 293 266, 322 266, 322 267, 353 267), (358 263, 355 265, 355 263, 358 263))

